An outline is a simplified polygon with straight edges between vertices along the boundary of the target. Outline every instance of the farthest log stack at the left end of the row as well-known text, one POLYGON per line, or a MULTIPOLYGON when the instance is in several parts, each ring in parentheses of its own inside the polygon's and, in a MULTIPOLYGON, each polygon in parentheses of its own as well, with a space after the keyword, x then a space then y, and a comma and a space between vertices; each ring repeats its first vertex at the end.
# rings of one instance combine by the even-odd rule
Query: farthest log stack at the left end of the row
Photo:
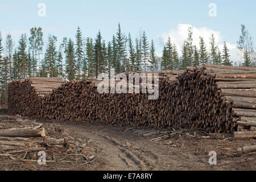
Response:
POLYGON ((61 78, 28 78, 9 82, 9 114, 35 117, 40 111, 42 97, 58 88, 61 78))

